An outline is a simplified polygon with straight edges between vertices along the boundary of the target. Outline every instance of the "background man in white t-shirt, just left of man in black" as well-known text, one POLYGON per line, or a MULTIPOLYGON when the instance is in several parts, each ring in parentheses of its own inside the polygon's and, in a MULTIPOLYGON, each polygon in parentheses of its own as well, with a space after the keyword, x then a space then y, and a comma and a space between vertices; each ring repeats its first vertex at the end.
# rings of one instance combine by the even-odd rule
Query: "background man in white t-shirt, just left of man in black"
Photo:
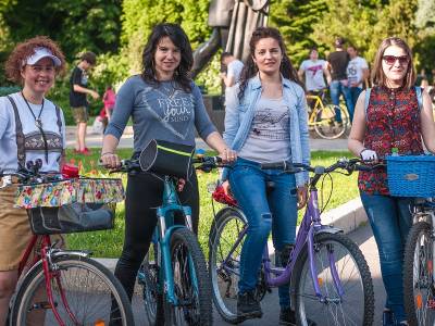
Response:
MULTIPOLYGON (((321 91, 326 88, 325 77, 327 84, 331 82, 331 74, 327 70, 327 62, 325 60, 319 59, 319 52, 316 48, 310 50, 310 59, 303 60, 299 71, 299 79, 302 80, 303 74, 306 75, 304 84, 307 89, 307 95, 320 96, 321 91)), ((311 109, 315 101, 308 100, 311 109)))

